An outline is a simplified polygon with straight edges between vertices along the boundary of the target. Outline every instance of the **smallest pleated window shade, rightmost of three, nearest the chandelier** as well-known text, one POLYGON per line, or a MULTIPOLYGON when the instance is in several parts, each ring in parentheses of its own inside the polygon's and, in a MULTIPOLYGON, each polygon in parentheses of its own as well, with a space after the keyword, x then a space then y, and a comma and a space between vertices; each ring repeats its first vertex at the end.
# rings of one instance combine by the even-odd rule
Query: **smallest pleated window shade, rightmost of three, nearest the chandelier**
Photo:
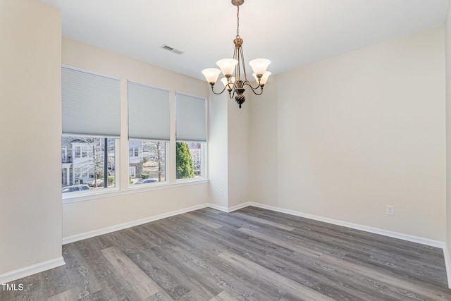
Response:
POLYGON ((178 141, 206 141, 206 101, 175 94, 175 134, 178 141))

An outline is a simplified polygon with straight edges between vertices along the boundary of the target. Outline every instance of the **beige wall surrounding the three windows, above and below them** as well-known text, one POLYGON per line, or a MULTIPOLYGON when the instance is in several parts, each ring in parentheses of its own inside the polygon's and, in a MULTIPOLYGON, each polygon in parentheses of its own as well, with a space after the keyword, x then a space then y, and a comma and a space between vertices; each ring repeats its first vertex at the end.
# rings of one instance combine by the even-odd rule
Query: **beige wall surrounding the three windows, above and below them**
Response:
MULTIPOLYGON (((63 64, 121 78, 121 142, 119 149, 121 154, 128 154, 127 80, 170 90, 171 112, 174 112, 175 91, 208 97, 208 87, 201 80, 188 78, 72 39, 63 39, 63 64)), ((172 113, 172 125, 175 124, 173 115, 172 113)), ((172 126, 171 137, 173 140, 174 129, 175 127, 172 126)), ((171 149, 175 149, 173 143, 169 147, 168 155, 173 157, 173 160, 170 161, 175 162, 175 152, 171 152, 171 149)), ((127 156, 121 156, 121 159, 124 158, 127 156)), ((120 167, 121 188, 126 190, 128 187, 128 160, 122 160, 120 167)), ((175 170, 175 166, 168 166, 168 170, 175 170)), ((169 180, 175 181, 174 173, 169 180)), ((194 207, 205 204, 208 199, 208 183, 202 183, 63 204, 63 237, 68 238, 82 233, 99 231, 103 228, 194 207)))

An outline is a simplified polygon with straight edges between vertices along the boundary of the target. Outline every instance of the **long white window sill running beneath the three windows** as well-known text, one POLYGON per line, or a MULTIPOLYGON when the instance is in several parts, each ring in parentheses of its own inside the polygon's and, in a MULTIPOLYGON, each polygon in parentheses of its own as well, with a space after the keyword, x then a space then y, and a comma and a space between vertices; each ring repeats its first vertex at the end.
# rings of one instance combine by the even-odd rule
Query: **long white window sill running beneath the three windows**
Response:
POLYGON ((128 187, 124 190, 119 190, 118 188, 107 188, 103 191, 96 192, 86 192, 86 193, 77 193, 77 195, 63 196, 63 204, 70 204, 74 202, 83 202, 89 201, 91 199, 105 199, 107 197, 118 197, 120 195, 130 195, 133 193, 142 193, 153 190, 162 190, 162 189, 171 189, 178 188, 189 185, 199 185, 209 183, 208 179, 199 179, 199 180, 177 180, 176 183, 158 183, 158 184, 149 184, 144 185, 144 187, 128 187))

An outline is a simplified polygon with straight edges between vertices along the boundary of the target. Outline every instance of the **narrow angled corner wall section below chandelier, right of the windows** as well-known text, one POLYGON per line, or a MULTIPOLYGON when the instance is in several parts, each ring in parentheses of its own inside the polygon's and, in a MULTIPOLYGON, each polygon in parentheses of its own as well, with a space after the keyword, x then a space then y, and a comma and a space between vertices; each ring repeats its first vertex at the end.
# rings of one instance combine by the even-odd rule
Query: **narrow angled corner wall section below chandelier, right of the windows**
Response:
POLYGON ((249 96, 239 109, 228 94, 210 93, 209 202, 225 210, 250 200, 249 96))

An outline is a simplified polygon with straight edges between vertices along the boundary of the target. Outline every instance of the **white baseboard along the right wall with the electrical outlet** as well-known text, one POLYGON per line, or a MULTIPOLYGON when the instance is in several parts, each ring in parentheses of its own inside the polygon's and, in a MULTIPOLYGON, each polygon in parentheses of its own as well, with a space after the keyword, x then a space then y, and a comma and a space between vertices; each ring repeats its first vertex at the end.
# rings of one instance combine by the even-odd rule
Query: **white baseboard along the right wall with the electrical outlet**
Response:
POLYGON ((441 249, 444 249, 445 246, 446 246, 445 242, 438 241, 438 240, 430 240, 428 238, 421 238, 421 237, 414 236, 414 235, 407 235, 407 234, 403 234, 403 233, 397 233, 397 232, 393 232, 393 231, 383 230, 383 229, 380 229, 380 228, 373 228, 373 227, 370 227, 370 226, 363 226, 363 225, 359 225, 357 223, 348 223, 347 221, 339 221, 337 219, 328 219, 328 218, 322 217, 322 216, 316 216, 316 215, 313 215, 313 214, 304 214, 304 213, 299 212, 299 211, 293 211, 293 210, 289 210, 289 209, 282 209, 282 208, 273 207, 273 206, 269 206, 269 205, 265 205, 265 204, 259 204, 259 203, 250 202, 249 206, 259 207, 261 209, 268 209, 268 210, 271 210, 271 211, 277 211, 277 212, 285 213, 285 214, 291 214, 291 215, 294 215, 294 216, 300 216, 300 217, 304 217, 306 219, 313 219, 315 221, 323 221, 324 223, 332 223, 333 225, 344 226, 344 227, 347 227, 347 228, 352 228, 352 229, 356 229, 356 230, 362 230, 362 231, 366 231, 366 232, 369 232, 369 233, 385 235, 385 236, 388 236, 390 238, 398 238, 398 239, 401 239, 401 240, 407 240, 409 242, 421 243, 422 245, 428 245, 428 246, 431 246, 431 247, 439 247, 441 249))

